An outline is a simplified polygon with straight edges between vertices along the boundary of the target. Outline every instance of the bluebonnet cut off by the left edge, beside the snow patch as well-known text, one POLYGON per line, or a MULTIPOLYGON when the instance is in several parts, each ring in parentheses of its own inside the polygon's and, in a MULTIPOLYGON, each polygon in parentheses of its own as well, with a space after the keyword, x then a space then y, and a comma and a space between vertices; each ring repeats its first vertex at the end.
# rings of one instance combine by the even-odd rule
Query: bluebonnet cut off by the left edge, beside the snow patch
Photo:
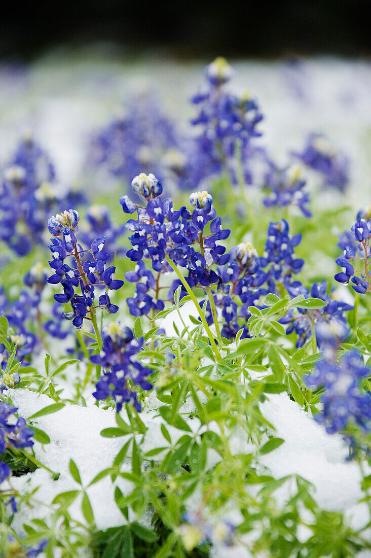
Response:
POLYGON ((7 463, 2 461, 7 449, 31 448, 33 431, 26 425, 25 419, 15 413, 17 407, 12 407, 0 401, 0 484, 7 479, 11 470, 7 463))

